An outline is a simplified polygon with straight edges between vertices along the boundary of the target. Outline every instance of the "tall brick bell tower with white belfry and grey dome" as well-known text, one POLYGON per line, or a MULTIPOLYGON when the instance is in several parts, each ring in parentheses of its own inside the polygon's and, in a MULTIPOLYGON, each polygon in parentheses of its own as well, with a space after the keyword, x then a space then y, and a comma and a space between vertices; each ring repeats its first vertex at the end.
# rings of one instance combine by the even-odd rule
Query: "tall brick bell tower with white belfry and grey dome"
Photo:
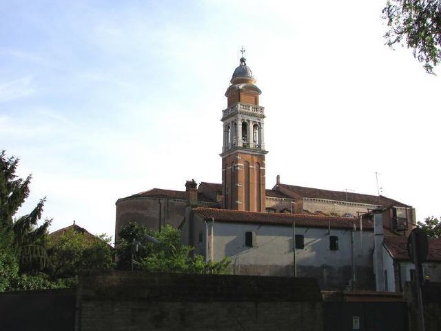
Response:
POLYGON ((227 109, 222 111, 223 208, 265 211, 264 108, 259 106, 260 89, 254 85, 246 59, 234 70, 225 92, 227 109))

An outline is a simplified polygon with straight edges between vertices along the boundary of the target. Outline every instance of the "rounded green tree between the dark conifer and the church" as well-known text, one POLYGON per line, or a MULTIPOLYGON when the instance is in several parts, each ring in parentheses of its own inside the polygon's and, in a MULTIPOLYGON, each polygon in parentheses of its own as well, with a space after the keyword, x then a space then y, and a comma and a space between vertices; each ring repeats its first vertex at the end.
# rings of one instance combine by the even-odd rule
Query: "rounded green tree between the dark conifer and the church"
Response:
POLYGON ((92 237, 70 228, 58 237, 49 237, 48 254, 52 262, 52 277, 77 277, 83 270, 114 268, 112 239, 105 234, 92 237))

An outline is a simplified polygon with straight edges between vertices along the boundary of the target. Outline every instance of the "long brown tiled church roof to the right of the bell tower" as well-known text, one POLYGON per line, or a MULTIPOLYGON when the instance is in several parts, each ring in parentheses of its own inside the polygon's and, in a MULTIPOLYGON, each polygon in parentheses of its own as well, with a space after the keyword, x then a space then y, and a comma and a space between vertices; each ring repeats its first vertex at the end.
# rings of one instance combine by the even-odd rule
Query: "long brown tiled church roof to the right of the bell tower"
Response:
MULTIPOLYGON (((294 194, 297 194, 300 197, 305 197, 305 198, 346 201, 346 197, 347 197, 348 202, 378 205, 378 196, 376 195, 345 192, 345 191, 322 190, 320 188, 305 188, 302 186, 287 185, 282 183, 276 184, 273 190, 277 190, 278 188, 285 188, 286 190, 289 190, 294 194)), ((405 205, 404 203, 384 197, 382 195, 380 195, 380 202, 382 205, 395 205, 396 207, 410 207, 409 205, 405 205)))

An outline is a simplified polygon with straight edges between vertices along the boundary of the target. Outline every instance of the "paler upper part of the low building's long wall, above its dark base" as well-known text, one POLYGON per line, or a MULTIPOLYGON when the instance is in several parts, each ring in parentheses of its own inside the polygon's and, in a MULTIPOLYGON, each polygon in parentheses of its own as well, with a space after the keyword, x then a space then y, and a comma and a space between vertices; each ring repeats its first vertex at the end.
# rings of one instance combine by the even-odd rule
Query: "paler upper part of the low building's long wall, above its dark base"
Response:
MULTIPOLYGON (((351 265, 351 230, 331 229, 338 236, 338 250, 329 250, 327 228, 296 228, 296 234, 305 238, 305 249, 296 250, 298 265, 322 266, 351 265)), ((373 232, 354 234, 356 265, 371 266, 373 232)), ((200 250, 199 250, 200 251, 200 250)), ((293 229, 283 225, 258 225, 248 223, 214 223, 214 260, 232 257, 234 263, 258 265, 293 264, 293 229), (256 246, 245 247, 245 232, 256 232, 256 246)))

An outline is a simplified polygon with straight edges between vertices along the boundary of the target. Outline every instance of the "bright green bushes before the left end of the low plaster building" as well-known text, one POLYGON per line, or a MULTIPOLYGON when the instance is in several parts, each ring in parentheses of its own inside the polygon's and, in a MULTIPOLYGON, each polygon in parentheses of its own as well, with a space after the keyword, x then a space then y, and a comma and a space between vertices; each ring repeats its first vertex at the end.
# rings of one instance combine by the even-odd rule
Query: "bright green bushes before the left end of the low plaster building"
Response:
POLYGON ((229 259, 208 262, 201 255, 192 257, 193 248, 181 243, 181 233, 165 225, 161 231, 145 228, 137 223, 130 223, 120 232, 120 241, 116 252, 119 257, 118 267, 130 270, 132 263, 133 240, 141 243, 135 252, 135 267, 138 270, 152 272, 188 272, 188 273, 225 273, 229 259), (160 243, 145 241, 145 235, 154 237, 160 243))

